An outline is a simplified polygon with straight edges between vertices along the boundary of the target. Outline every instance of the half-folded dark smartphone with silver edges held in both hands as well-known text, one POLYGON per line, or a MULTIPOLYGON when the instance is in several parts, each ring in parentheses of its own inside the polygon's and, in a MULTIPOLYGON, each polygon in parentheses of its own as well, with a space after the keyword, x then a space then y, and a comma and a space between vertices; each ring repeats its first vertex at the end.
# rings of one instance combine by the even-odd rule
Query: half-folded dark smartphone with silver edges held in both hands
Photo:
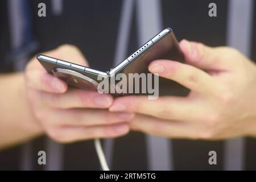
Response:
MULTIPOLYGON (((94 90, 97 89, 97 84, 100 82, 99 77, 110 79, 118 73, 124 73, 127 78, 129 78, 129 73, 149 73, 148 65, 157 59, 175 60, 184 63, 183 53, 180 50, 179 43, 171 28, 166 28, 159 32, 158 35, 154 36, 154 38, 135 51, 133 55, 129 56, 109 72, 96 71, 94 69, 44 55, 38 55, 37 59, 49 73, 53 73, 55 76, 67 81, 69 85, 82 89, 89 88, 94 90)), ((127 79, 127 83, 129 82, 129 79, 127 79)), ((109 85, 110 88, 111 84, 109 85)), ((129 88, 129 84, 127 84, 127 88, 129 88)), ((159 77, 159 96, 185 96, 188 92, 189 90, 184 88, 184 86, 181 86, 172 80, 159 77)), ((121 96, 123 94, 114 95, 121 96)))

